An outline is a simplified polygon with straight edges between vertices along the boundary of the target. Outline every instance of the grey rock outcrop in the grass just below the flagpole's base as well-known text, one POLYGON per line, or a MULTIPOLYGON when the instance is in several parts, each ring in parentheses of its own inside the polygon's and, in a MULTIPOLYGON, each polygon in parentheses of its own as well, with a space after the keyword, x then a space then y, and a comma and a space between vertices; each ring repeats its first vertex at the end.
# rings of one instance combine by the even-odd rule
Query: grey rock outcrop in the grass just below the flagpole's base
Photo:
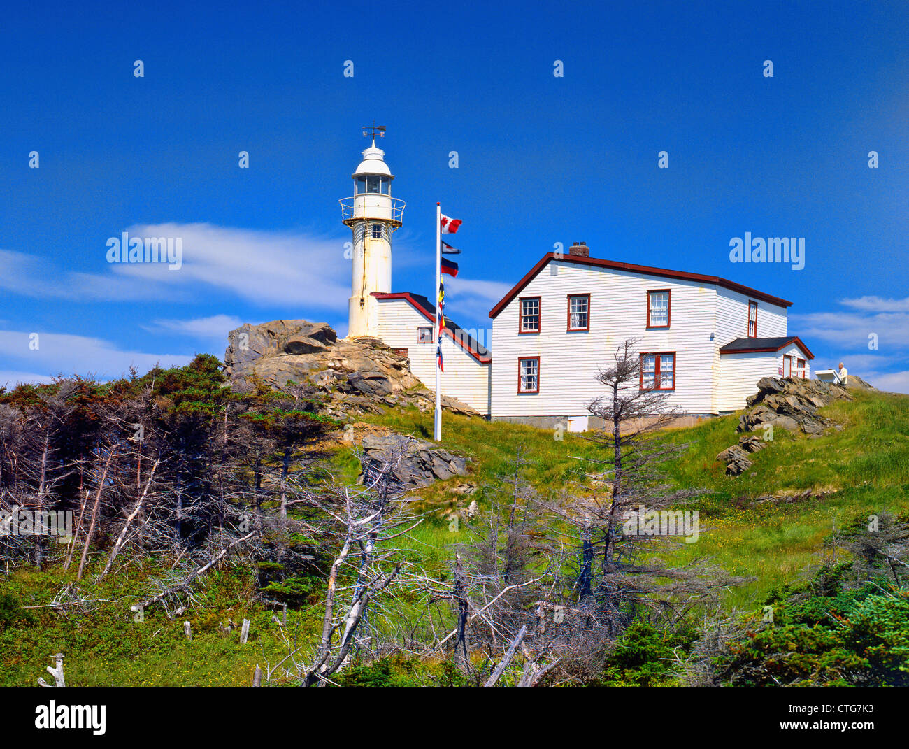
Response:
POLYGON ((467 474, 466 458, 403 434, 366 434, 361 446, 365 483, 386 471, 406 491, 467 474))

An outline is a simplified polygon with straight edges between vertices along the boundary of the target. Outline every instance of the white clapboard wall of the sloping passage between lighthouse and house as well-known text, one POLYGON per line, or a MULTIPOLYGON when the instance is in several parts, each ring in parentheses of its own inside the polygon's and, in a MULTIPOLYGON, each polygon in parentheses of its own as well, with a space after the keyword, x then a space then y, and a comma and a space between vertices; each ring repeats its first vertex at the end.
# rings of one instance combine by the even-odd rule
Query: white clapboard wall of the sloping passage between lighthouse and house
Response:
MULTIPOLYGON (((418 343, 416 330, 435 325, 406 299, 379 299, 378 304, 378 337, 392 348, 407 349, 411 372, 435 393, 435 343, 418 343)), ((442 339, 442 358, 442 394, 489 414, 490 365, 478 362, 447 335, 442 339)))

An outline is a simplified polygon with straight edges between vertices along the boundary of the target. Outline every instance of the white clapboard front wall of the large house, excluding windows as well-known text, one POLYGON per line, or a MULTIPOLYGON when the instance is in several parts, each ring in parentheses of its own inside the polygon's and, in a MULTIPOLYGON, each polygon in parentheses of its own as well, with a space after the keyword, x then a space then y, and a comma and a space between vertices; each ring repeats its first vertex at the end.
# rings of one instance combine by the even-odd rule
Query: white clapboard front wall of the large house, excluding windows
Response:
POLYGON ((640 339, 639 352, 675 353, 669 404, 688 414, 714 413, 715 300, 714 286, 697 281, 550 261, 494 318, 493 416, 583 417, 603 393, 595 380, 599 368, 628 338, 640 339), (647 291, 657 289, 672 291, 668 330, 646 327, 647 291), (572 294, 590 294, 589 332, 566 332, 572 294), (539 334, 518 334, 523 296, 541 297, 539 334), (540 357, 538 394, 517 393, 522 356, 540 357))

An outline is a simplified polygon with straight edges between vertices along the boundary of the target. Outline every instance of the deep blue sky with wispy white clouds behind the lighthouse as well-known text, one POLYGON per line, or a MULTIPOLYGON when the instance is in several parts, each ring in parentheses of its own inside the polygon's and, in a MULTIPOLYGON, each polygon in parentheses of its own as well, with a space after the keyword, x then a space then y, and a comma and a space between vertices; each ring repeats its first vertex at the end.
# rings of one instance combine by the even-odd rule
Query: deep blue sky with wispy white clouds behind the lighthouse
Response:
POLYGON ((580 239, 791 299, 815 368, 909 392, 905 3, 307 5, 5 9, 0 384, 220 357, 247 321, 344 334, 337 200, 375 119, 394 290, 431 294, 441 201, 461 325, 580 239), (183 267, 108 264, 124 231, 183 267), (804 236, 804 269, 731 263, 745 232, 804 236))

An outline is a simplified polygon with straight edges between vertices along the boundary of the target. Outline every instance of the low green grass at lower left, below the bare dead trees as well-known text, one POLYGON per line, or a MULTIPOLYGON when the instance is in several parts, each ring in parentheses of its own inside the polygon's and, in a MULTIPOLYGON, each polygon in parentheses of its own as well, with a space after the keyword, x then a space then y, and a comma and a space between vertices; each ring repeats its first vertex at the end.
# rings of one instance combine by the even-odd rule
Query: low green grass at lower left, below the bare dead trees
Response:
MULTIPOLYGON (((108 578, 100 586, 78 584, 84 594, 108 601, 92 613, 25 608, 30 623, 0 628, 0 685, 35 686, 38 676, 53 684, 45 666, 53 664, 50 656, 55 653, 65 655, 70 686, 244 685, 251 683, 256 664, 265 670, 266 663, 277 664, 287 654, 278 625, 271 620, 273 612, 240 603, 248 599, 253 584, 251 573, 243 568, 208 576, 198 590, 205 608, 168 619, 155 606, 137 622, 129 607, 147 593, 145 579, 156 572, 160 570, 149 568, 128 579, 108 578), (218 625, 228 618, 237 624, 250 619, 245 645, 239 642, 239 629, 220 631, 218 625), (192 642, 185 639, 185 621, 192 624, 192 642)), ((0 594, 15 594, 24 607, 45 604, 65 582, 59 570, 24 568, 0 583, 0 594)), ((286 629, 312 636, 314 612, 288 611, 286 629)))

